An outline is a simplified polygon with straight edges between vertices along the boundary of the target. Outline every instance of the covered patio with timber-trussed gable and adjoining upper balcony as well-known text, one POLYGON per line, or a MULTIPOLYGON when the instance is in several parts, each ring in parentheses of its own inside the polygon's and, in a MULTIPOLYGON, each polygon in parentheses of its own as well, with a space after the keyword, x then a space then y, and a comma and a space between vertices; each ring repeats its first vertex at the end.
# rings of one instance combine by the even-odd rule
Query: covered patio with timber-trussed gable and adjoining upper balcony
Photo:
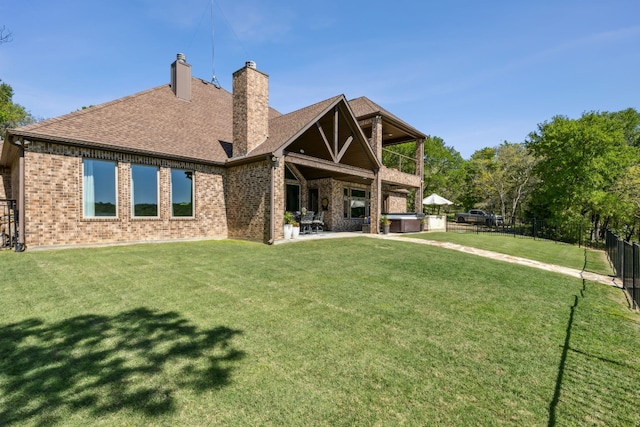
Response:
POLYGON ((406 212, 411 191, 421 194, 425 135, 366 98, 337 101, 275 152, 284 164, 284 210, 322 211, 326 230, 360 231, 365 220, 406 212), (366 113, 357 122, 354 109, 366 113), (383 164, 383 147, 406 142, 416 146, 411 173, 383 164))

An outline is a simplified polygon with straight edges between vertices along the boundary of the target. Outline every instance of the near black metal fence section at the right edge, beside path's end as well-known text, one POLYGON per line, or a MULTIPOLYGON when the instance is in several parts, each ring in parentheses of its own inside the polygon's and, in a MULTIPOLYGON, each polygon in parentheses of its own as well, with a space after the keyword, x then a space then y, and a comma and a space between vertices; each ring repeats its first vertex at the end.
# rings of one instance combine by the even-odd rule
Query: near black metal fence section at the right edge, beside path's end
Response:
POLYGON ((627 242, 615 233, 607 230, 606 249, 609 262, 613 266, 616 277, 629 292, 633 308, 640 305, 640 246, 627 242))

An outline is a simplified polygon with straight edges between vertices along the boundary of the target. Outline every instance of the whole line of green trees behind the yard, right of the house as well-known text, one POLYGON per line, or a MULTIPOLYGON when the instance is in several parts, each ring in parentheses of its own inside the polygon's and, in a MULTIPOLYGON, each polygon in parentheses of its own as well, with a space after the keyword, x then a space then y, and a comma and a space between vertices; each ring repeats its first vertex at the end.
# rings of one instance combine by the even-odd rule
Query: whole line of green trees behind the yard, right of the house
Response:
MULTIPOLYGON (((408 155, 415 144, 389 149, 408 155)), ((606 229, 640 240, 640 114, 632 108, 555 116, 525 141, 483 148, 468 160, 437 136, 424 153, 423 197, 438 193, 457 209, 491 210, 506 224, 537 218, 580 226, 591 241, 606 229)))

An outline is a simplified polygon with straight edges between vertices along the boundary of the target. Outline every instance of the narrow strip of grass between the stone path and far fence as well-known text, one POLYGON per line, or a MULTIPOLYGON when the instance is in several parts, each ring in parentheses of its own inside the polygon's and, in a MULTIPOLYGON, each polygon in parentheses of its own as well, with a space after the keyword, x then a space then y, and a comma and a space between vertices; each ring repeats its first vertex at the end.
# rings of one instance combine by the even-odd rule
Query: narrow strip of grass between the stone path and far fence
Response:
POLYGON ((533 259, 549 264, 586 270, 592 273, 612 275, 613 270, 607 255, 602 250, 578 247, 549 240, 531 239, 490 233, 420 233, 407 234, 414 237, 438 242, 451 242, 478 249, 499 252, 522 258, 533 259))

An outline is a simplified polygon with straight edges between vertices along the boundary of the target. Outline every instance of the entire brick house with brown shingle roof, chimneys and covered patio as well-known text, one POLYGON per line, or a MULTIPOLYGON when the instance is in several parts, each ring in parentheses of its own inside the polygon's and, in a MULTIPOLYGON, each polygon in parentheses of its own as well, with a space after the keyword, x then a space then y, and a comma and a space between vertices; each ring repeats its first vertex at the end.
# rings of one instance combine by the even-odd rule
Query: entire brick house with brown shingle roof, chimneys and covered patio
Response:
POLYGON ((10 129, 0 199, 18 201, 19 244, 271 243, 285 210, 323 210, 329 230, 351 231, 422 194, 426 135, 369 99, 281 114, 268 98, 253 62, 230 93, 193 78, 179 54, 169 85, 10 129), (415 173, 382 165, 383 147, 414 141, 415 173))

